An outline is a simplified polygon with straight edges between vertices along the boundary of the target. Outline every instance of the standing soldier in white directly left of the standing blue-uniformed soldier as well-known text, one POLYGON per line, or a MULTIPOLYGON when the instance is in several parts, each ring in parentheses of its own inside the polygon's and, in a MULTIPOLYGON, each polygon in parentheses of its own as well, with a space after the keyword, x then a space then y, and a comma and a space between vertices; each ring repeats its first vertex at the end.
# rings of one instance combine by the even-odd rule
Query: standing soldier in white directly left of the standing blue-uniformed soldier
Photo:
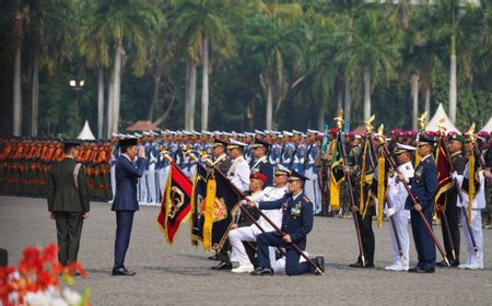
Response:
POLYGON ((395 150, 395 155, 398 162, 398 170, 401 173, 400 176, 397 174, 388 178, 388 193, 387 201, 389 201, 391 208, 388 209, 388 202, 386 202, 386 213, 393 217, 395 222, 395 229, 393 223, 389 222, 389 240, 391 244, 394 263, 387 266, 385 270, 388 271, 408 271, 410 262, 410 238, 408 235, 408 220, 410 219, 410 211, 405 209, 405 201, 407 200, 408 192, 405 189, 402 180, 409 183, 410 178, 413 177, 413 165, 411 161, 411 152, 415 151, 415 148, 405 144, 397 144, 395 150), (401 251, 403 254, 403 261, 401 261, 400 255, 398 252, 398 244, 396 242, 395 232, 398 234, 400 240, 401 251))

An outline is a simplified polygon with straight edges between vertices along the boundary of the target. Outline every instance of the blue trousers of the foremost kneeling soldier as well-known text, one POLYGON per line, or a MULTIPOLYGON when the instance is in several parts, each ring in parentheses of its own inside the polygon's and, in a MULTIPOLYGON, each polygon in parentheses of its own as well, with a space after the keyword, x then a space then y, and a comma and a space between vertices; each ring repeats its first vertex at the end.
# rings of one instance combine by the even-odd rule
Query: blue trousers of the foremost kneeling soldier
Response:
MULTIPOLYGON (((304 273, 314 273, 315 269, 307 262, 298 262, 300 255, 289 244, 284 243, 282 237, 276 232, 269 232, 256 237, 256 248, 258 252, 258 267, 271 268, 268 247, 285 248, 285 273, 288 275, 298 275, 304 273)), ((300 247, 301 248, 301 247, 300 247)), ((304 248, 301 248, 304 250, 304 248)))

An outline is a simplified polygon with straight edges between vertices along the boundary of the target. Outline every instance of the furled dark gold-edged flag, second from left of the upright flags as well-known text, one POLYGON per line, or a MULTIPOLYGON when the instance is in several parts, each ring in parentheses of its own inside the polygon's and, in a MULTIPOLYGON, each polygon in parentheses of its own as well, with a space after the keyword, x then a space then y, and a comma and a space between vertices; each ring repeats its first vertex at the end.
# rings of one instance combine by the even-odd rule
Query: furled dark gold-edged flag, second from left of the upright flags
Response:
MULTIPOLYGON (((371 136, 370 136, 371 137, 371 136)), ((364 143, 362 153, 362 172, 361 172, 361 202, 360 213, 365 216, 370 202, 370 189, 373 184, 374 172, 377 167, 376 149, 373 145, 372 139, 367 137, 364 143)))

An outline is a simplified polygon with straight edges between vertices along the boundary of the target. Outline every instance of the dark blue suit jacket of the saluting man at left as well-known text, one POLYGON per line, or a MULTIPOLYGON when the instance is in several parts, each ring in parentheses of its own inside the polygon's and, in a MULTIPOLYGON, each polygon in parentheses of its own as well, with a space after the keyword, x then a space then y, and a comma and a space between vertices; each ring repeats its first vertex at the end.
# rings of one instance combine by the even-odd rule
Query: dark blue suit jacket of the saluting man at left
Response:
POLYGON ((137 165, 134 165, 122 154, 118 157, 115 166, 116 192, 112 210, 139 210, 139 202, 137 201, 137 181, 138 178, 143 175, 145 166, 145 158, 138 158, 137 165))

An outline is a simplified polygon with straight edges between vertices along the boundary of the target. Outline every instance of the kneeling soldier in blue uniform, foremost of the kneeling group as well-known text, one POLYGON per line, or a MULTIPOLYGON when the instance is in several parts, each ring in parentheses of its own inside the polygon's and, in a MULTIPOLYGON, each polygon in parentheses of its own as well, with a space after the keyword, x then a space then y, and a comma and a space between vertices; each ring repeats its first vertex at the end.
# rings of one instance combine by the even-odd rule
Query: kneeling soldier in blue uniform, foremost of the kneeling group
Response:
MULTIPOLYGON (((304 273, 315 273, 315 268, 308 262, 300 262, 300 254, 291 246, 291 243, 297 245, 304 250, 306 248, 307 234, 313 228, 313 203, 304 195, 304 183, 306 177, 291 172, 289 177, 289 192, 282 199, 267 202, 249 202, 250 207, 258 205, 260 210, 280 209, 283 210, 282 228, 284 236, 278 232, 268 232, 258 235, 257 252, 258 268, 251 272, 251 275, 272 275, 273 270, 270 266, 269 246, 281 247, 285 249, 285 273, 289 275, 298 275, 304 273)), ((320 271, 325 271, 325 258, 319 256, 313 259, 320 271)))

